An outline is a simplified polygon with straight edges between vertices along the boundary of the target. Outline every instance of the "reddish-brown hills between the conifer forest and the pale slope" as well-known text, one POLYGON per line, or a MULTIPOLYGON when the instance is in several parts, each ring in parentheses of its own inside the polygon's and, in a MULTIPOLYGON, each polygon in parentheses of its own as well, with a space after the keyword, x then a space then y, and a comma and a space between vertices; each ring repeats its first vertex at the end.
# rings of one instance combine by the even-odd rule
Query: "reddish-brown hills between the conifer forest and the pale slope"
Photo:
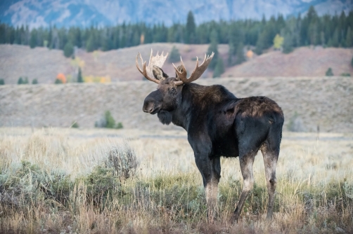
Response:
MULTIPOLYGON (((195 57, 202 58, 208 48, 208 45, 153 43, 108 52, 86 53, 84 50, 77 50, 76 57, 84 63, 83 76, 109 76, 113 82, 141 81, 142 76, 135 67, 137 53, 141 52, 143 59, 148 60, 150 48, 155 53, 158 50, 170 52, 173 46, 179 49, 188 71, 195 67, 195 57)), ((218 50, 226 64, 228 46, 219 45, 218 50)), ((353 76, 353 68, 349 65, 352 57, 353 50, 344 48, 297 48, 288 55, 280 51, 269 51, 260 56, 255 55, 243 64, 226 67, 222 76, 324 76, 328 67, 333 69, 335 75, 349 73, 353 76)), ((174 74, 172 64, 168 62, 163 69, 169 75, 174 74)), ((0 45, 0 78, 4 78, 7 84, 17 83, 20 76, 27 76, 30 82, 37 78, 39 83, 53 83, 58 73, 77 77, 76 72, 72 60, 64 57, 62 50, 0 45)), ((203 77, 212 77, 212 72, 206 71, 203 77)))

